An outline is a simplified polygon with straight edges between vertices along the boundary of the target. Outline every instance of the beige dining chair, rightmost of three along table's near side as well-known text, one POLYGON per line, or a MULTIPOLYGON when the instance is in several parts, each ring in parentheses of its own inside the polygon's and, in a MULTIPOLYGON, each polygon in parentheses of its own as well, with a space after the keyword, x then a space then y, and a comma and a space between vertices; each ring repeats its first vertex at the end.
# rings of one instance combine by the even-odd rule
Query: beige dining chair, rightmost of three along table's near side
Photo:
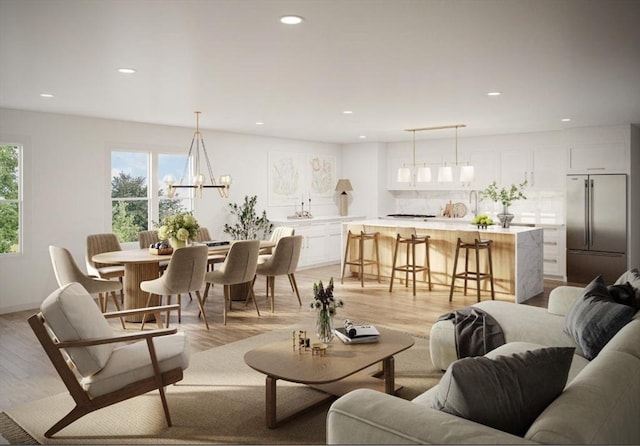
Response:
POLYGON ((298 297, 298 303, 302 306, 294 275, 298 268, 301 249, 301 235, 281 237, 275 246, 274 253, 270 255, 264 263, 258 263, 256 267, 256 276, 262 275, 267 278, 267 299, 269 299, 269 291, 271 291, 271 312, 275 311, 276 276, 286 275, 289 278, 291 288, 295 291, 298 297))

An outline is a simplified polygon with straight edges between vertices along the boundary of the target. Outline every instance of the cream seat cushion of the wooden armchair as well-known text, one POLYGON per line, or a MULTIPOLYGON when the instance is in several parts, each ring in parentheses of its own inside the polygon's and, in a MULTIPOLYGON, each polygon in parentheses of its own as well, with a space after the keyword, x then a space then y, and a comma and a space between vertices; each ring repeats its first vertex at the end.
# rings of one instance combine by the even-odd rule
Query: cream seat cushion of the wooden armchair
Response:
MULTIPOLYGON (((189 366, 188 338, 184 332, 153 338, 160 372, 189 366)), ((95 398, 121 389, 127 384, 153 376, 149 348, 144 341, 117 347, 109 363, 98 373, 82 379, 82 387, 95 398)))

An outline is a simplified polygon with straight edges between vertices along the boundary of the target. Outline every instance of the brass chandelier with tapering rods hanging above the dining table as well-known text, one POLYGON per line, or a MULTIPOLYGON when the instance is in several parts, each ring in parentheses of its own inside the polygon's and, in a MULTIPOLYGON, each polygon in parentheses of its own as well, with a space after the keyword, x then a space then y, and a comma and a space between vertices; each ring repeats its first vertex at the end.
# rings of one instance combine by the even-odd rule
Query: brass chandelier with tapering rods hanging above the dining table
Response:
POLYGON ((204 145, 204 139, 202 138, 202 133, 200 133, 200 113, 199 111, 194 112, 196 114, 196 131, 193 132, 193 138, 191 138, 191 146, 189 146, 189 153, 187 154, 187 163, 184 166, 184 171, 182 172, 182 177, 180 178, 180 182, 176 184, 176 180, 173 175, 169 174, 164 177, 164 183, 167 185, 168 192, 167 195, 169 198, 173 198, 175 194, 175 190, 177 188, 186 188, 186 189, 197 189, 200 191, 200 197, 202 197, 202 189, 205 188, 215 188, 218 189, 221 197, 227 198, 229 196, 229 187, 231 186, 231 175, 221 175, 219 180, 216 181, 216 178, 213 176, 213 170, 211 169, 211 163, 209 162, 209 155, 207 154, 207 149, 204 145), (195 143, 195 151, 193 150, 193 146, 195 143), (200 171, 200 146, 202 145, 202 154, 204 155, 204 161, 207 164, 207 173, 209 174, 209 183, 205 184, 206 178, 200 171), (192 158, 193 157, 193 158, 192 158), (192 184, 182 184, 182 181, 187 174, 187 170, 189 168, 189 161, 193 159, 193 182, 192 184))

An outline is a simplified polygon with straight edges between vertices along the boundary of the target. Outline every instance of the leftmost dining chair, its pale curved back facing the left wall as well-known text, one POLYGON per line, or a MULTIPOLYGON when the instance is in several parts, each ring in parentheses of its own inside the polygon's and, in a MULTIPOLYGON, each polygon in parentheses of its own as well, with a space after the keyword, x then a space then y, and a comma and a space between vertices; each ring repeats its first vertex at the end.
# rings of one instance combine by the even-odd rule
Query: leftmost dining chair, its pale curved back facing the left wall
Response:
MULTIPOLYGON (((108 279, 100 279, 99 277, 90 277, 82 272, 73 256, 66 248, 59 246, 49 246, 49 256, 51 257, 51 265, 53 273, 58 281, 58 286, 62 287, 69 283, 78 282, 89 294, 97 294, 100 311, 107 312, 107 296, 111 295, 116 310, 120 311, 120 304, 116 297, 116 291, 122 291, 122 284, 108 279)), ((120 318, 122 328, 124 318, 120 318)))

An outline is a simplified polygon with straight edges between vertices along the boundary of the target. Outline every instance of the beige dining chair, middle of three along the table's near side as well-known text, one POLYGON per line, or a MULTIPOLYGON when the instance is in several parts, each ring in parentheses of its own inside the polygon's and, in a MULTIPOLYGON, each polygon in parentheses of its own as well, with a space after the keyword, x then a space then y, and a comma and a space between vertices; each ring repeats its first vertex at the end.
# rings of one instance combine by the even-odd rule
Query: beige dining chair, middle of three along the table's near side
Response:
MULTIPOLYGON (((227 305, 231 309, 231 285, 248 284, 245 304, 249 299, 253 300, 256 312, 260 316, 256 296, 253 293, 253 279, 256 275, 259 251, 260 240, 237 240, 231 244, 222 266, 215 271, 209 271, 204 277, 206 282, 204 289, 205 302, 211 285, 217 283, 224 286, 222 320, 225 325, 227 325, 227 305)), ((204 309, 201 309, 201 311, 204 316, 204 309)))

